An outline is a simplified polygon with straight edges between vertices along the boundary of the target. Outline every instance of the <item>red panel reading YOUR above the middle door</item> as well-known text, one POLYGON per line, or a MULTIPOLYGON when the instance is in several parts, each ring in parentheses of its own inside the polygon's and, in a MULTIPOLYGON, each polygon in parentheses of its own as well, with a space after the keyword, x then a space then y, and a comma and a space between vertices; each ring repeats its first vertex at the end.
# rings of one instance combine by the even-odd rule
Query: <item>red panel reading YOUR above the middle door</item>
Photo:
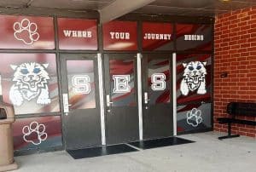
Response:
POLYGON ((110 21, 103 25, 104 50, 137 50, 137 22, 110 21))

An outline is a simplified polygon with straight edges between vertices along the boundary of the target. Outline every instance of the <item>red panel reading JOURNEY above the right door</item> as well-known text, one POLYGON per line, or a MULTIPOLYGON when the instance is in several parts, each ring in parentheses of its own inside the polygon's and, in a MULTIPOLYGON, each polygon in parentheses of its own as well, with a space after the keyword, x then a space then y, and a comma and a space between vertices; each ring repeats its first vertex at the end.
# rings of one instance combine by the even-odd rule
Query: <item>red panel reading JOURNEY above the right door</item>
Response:
POLYGON ((170 23, 143 22, 143 50, 172 50, 172 32, 170 23))

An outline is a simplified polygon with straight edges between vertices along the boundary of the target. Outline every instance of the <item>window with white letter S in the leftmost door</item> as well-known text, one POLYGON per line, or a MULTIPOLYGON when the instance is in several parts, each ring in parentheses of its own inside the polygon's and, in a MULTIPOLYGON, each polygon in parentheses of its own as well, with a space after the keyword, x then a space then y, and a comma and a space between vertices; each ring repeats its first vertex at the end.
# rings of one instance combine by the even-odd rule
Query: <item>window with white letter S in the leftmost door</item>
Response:
POLYGON ((70 109, 96 108, 94 77, 93 60, 67 60, 70 109))

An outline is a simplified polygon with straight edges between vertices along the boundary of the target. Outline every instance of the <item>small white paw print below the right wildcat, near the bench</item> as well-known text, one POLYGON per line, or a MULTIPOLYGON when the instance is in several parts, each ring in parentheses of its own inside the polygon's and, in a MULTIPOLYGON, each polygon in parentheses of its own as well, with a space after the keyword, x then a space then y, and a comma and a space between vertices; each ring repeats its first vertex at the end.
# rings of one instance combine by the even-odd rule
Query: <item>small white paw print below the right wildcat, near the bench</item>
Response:
POLYGON ((189 123, 189 125, 197 127, 201 122, 201 110, 193 108, 191 111, 187 112, 187 123, 189 123))

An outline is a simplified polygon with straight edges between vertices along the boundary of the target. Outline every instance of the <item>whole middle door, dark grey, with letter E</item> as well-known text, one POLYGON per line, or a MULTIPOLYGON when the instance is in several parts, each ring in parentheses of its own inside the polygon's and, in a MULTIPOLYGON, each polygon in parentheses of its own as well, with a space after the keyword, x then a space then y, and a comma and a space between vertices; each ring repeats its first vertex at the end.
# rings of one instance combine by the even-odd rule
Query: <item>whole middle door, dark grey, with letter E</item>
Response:
POLYGON ((105 54, 106 140, 139 140, 136 54, 105 54))

